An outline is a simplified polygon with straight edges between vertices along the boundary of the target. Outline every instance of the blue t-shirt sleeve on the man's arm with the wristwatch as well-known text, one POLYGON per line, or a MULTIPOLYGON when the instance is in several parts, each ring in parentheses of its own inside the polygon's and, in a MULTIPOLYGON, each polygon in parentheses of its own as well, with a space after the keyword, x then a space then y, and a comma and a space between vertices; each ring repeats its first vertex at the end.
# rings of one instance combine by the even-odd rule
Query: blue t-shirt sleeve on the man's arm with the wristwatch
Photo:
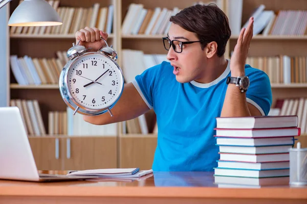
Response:
POLYGON ((246 92, 247 103, 255 106, 262 115, 268 115, 272 105, 272 91, 268 75, 259 69, 253 69, 247 76, 250 87, 246 92))

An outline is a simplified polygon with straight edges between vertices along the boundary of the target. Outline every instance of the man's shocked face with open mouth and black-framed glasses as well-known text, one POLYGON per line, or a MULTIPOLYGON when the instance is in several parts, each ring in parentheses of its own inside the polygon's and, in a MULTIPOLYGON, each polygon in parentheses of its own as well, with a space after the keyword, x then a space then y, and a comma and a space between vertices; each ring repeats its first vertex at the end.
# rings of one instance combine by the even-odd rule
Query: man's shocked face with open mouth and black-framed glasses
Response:
MULTIPOLYGON (((168 31, 169 40, 179 40, 182 42, 199 41, 195 33, 184 30, 179 25, 171 23, 168 31)), ((168 43, 164 40, 164 43, 168 43)), ((181 52, 181 46, 175 41, 176 51, 181 52)), ((167 46, 167 45, 165 45, 167 46)), ((201 42, 182 45, 182 53, 176 53, 170 46, 167 59, 173 66, 173 74, 180 83, 187 83, 203 77, 205 66, 207 63, 206 48, 202 50, 201 42)))

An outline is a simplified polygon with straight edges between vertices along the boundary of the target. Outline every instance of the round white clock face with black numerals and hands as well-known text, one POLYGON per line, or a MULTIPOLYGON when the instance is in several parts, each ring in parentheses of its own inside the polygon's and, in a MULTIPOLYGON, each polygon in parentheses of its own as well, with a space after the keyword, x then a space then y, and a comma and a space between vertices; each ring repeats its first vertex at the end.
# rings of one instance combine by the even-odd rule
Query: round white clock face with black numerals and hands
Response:
POLYGON ((100 110, 119 98, 123 79, 120 69, 111 59, 98 53, 85 54, 71 64, 67 85, 80 106, 100 110))

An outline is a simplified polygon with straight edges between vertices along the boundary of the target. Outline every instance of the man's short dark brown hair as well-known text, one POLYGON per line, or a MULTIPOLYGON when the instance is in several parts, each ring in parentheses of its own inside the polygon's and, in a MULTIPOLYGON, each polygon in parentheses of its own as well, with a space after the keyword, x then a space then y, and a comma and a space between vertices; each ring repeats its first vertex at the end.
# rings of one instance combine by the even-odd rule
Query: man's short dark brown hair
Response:
POLYGON ((205 41, 202 42, 202 49, 207 43, 215 41, 217 56, 224 55, 231 31, 226 14, 215 4, 194 5, 185 8, 175 16, 171 16, 170 21, 195 33, 199 40, 205 41))

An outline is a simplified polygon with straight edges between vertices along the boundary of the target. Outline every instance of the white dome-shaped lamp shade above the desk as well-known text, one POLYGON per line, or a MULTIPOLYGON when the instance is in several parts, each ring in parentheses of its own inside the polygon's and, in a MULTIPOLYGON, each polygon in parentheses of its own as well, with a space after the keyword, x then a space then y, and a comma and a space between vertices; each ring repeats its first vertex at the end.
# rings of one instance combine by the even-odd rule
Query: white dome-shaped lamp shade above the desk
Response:
POLYGON ((25 0, 12 13, 10 26, 61 25, 58 13, 44 0, 25 0))

